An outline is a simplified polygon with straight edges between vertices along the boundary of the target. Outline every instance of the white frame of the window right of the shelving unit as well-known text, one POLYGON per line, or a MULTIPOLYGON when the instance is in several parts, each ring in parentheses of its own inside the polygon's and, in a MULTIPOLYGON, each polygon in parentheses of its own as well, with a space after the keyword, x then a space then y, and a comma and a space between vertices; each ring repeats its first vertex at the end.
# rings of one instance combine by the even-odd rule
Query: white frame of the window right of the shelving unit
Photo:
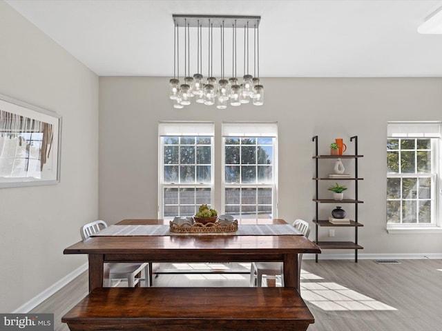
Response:
MULTIPOLYGON (((432 223, 387 223, 387 232, 395 233, 442 233, 442 208, 441 201, 441 122, 389 122, 387 124, 387 139, 432 139, 432 173, 427 174, 392 174, 387 173, 387 178, 419 178, 432 179, 432 223), (430 175, 430 176, 429 176, 430 175)), ((385 200, 387 201, 387 200, 385 200)), ((388 220, 386 220, 388 221, 388 220)))

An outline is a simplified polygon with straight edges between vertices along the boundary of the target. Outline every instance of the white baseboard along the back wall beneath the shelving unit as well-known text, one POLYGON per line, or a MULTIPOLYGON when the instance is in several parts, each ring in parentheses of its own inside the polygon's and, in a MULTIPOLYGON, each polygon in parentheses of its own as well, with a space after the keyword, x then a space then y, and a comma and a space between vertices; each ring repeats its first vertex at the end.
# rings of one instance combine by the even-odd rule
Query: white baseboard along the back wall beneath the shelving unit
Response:
MULTIPOLYGON (((315 254, 303 254, 302 259, 311 260, 315 258, 315 254)), ((318 254, 320 260, 354 260, 354 253, 347 254, 318 254)), ((359 253, 358 259, 360 260, 416 260, 416 259, 442 259, 442 253, 409 253, 409 254, 364 254, 359 253)))

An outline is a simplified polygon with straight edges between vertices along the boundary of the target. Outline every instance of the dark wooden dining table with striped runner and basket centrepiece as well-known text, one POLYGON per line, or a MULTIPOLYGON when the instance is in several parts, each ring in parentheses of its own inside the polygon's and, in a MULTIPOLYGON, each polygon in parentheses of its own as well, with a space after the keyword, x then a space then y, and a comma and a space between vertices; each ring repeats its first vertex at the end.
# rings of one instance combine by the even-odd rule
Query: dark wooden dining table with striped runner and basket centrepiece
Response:
MULTIPOLYGON (((281 225, 282 219, 244 219, 247 224, 281 225)), ((116 225, 169 225, 164 219, 125 219, 116 225)), ((109 278, 106 263, 116 262, 251 262, 283 263, 284 285, 299 290, 298 254, 320 253, 302 234, 146 235, 90 237, 70 245, 64 254, 87 254, 89 291, 102 288, 109 278)))

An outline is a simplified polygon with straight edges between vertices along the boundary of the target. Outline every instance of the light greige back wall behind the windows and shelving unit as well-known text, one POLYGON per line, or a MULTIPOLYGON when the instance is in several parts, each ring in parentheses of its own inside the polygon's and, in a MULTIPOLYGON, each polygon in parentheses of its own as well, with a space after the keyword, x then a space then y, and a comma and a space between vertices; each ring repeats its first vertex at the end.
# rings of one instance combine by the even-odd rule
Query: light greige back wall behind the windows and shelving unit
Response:
MULTIPOLYGON (((442 234, 387 234, 385 231, 385 143, 387 121, 442 120, 442 79, 262 79, 265 106, 217 110, 191 105, 175 110, 169 79, 100 77, 99 217, 109 223, 124 218, 157 217, 157 123, 160 120, 214 121, 215 159, 221 157, 222 121, 278 121, 279 214, 282 219, 314 217, 314 143, 320 154, 329 143, 358 136, 360 159, 359 231, 361 253, 441 253, 442 234)), ((327 161, 327 160, 326 160, 327 161)), ((347 163, 349 160, 345 160, 347 163)), ((216 161, 215 161, 216 162, 216 161)), ((348 164, 351 168, 351 164, 348 164)), ((325 174, 334 163, 325 164, 325 174)), ((220 171, 215 170, 215 183, 220 171)), ((327 183, 325 183, 326 185, 327 183)), ((220 185, 218 185, 218 188, 220 185)), ((326 187, 325 187, 326 188, 326 187)), ((331 197, 324 188, 322 197, 331 197)), ((352 190, 347 191, 352 194, 352 190)), ((220 207, 220 190, 215 208, 220 207)), ((321 196, 320 196, 321 197, 321 196)), ((325 205, 323 217, 334 209, 325 205)), ((344 206, 351 212, 351 206, 344 206)), ((322 237, 327 228, 320 229, 322 237)), ((336 239, 353 240, 353 229, 336 230, 336 239)), ((311 238, 314 238, 314 231, 311 238)), ((325 250, 324 254, 338 253, 325 250)), ((339 253, 352 254, 352 251, 339 253)))

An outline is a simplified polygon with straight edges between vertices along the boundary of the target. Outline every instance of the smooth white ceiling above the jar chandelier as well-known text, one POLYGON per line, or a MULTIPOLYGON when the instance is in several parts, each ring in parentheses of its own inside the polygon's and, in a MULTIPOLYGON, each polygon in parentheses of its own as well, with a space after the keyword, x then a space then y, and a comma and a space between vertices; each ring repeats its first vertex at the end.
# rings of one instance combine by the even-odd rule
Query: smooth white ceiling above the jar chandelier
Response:
POLYGON ((231 14, 261 16, 261 77, 442 77, 442 34, 417 32, 442 1, 6 2, 100 76, 171 77, 172 14, 231 14))

